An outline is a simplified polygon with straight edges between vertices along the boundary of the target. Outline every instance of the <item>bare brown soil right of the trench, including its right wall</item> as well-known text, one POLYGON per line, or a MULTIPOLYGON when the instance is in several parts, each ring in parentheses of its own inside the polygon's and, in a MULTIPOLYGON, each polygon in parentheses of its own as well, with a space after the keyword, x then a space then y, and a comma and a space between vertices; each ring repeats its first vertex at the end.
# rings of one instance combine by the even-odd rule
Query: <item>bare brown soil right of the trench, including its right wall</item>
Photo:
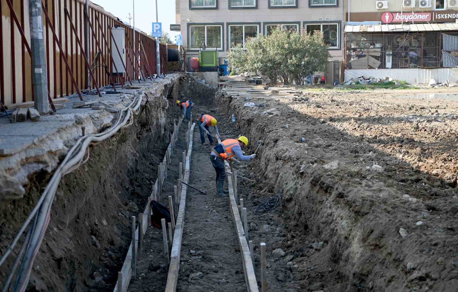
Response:
POLYGON ((458 102, 377 92, 265 102, 219 106, 252 151, 264 141, 246 170, 256 183, 239 184, 245 206, 284 189, 281 208, 248 214, 273 290, 456 291, 458 102), (280 116, 261 115, 273 107, 280 116))

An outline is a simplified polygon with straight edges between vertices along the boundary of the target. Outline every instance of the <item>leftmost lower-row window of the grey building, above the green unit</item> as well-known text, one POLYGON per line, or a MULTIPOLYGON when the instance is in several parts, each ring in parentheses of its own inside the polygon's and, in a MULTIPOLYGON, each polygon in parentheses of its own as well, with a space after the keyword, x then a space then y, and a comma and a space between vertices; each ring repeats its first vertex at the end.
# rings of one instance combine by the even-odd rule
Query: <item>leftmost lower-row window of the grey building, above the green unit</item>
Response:
POLYGON ((221 25, 190 26, 191 47, 223 49, 223 27, 221 25))

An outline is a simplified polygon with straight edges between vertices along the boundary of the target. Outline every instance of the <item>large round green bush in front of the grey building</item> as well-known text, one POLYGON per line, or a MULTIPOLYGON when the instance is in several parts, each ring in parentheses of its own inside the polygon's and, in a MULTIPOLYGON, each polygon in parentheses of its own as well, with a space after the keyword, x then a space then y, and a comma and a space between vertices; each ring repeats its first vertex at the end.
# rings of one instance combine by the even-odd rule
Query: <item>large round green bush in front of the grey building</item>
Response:
POLYGON ((282 31, 276 28, 268 37, 250 38, 228 52, 231 70, 240 74, 248 71, 276 84, 295 82, 302 85, 306 76, 317 71, 326 71, 331 57, 329 46, 322 32, 307 34, 305 31, 282 31))

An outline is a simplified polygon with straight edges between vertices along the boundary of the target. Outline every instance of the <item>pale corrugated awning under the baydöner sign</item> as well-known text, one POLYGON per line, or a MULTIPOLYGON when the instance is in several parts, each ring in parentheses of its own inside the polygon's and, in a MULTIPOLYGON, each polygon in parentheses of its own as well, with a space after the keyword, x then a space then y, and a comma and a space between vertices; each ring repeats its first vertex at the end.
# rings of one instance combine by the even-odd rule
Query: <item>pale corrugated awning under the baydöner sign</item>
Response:
POLYGON ((458 23, 346 25, 344 32, 438 32, 458 31, 458 23))

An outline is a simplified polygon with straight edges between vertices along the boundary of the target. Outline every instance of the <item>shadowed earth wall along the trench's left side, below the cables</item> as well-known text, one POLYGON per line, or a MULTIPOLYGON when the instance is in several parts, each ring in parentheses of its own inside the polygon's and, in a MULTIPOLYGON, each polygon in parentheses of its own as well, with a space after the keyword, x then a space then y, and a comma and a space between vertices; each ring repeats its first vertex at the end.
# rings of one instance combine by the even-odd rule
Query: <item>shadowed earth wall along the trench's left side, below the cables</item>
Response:
MULTIPOLYGON (((131 126, 91 146, 87 163, 60 182, 27 291, 113 291, 131 242, 131 216, 145 207, 174 119, 178 121, 182 114, 175 101, 213 96, 213 89, 192 78, 178 79, 167 98, 164 92, 149 96, 148 119, 142 106, 131 126)), ((11 243, 52 174, 34 174, 24 186, 23 199, 1 204, 2 250, 11 243)), ((5 282, 13 260, 10 256, 1 266, 0 283, 5 282)))

